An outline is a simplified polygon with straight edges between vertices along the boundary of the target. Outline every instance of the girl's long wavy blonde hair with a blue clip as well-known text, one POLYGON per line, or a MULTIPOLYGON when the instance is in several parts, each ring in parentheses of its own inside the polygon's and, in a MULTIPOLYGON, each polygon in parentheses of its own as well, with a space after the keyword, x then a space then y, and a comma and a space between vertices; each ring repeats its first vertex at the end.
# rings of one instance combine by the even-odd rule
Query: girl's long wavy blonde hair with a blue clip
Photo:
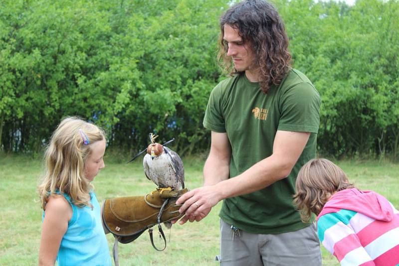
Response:
POLYGON ((93 185, 84 178, 86 161, 92 153, 90 144, 105 139, 105 133, 94 124, 78 117, 66 117, 51 135, 44 154, 46 173, 38 192, 41 207, 55 193, 67 194, 76 206, 91 206, 89 192, 93 185))

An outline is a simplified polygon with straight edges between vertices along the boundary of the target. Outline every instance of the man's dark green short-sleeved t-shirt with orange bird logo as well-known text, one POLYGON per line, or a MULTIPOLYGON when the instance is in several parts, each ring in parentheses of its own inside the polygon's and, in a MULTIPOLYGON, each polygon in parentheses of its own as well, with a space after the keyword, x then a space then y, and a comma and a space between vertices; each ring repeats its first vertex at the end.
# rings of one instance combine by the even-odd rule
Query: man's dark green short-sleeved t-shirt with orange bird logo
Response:
POLYGON ((245 74, 223 80, 212 90, 203 126, 227 133, 232 148, 230 178, 270 156, 278 130, 311 133, 288 177, 259 191, 225 199, 219 213, 223 221, 253 234, 280 234, 307 226, 293 206, 292 195, 299 169, 316 156, 319 108, 319 93, 295 69, 267 95, 245 74))

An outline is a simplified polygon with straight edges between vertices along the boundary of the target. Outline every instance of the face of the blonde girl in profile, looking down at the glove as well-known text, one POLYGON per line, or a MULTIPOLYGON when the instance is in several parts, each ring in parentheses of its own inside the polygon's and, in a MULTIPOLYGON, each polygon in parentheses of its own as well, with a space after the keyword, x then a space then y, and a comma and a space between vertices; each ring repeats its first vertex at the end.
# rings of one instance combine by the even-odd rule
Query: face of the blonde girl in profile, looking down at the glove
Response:
POLYGON ((104 153, 105 153, 105 139, 96 141, 90 144, 92 153, 86 161, 85 177, 89 181, 93 181, 94 177, 105 167, 104 153))

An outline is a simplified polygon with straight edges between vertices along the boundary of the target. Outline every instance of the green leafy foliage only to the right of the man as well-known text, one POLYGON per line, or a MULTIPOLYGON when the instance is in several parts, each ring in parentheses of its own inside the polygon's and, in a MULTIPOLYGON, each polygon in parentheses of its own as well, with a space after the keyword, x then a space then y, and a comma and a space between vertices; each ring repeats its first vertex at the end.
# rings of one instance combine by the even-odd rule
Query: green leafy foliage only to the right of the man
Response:
POLYGON ((399 2, 281 4, 294 64, 322 97, 319 150, 397 156, 399 2))

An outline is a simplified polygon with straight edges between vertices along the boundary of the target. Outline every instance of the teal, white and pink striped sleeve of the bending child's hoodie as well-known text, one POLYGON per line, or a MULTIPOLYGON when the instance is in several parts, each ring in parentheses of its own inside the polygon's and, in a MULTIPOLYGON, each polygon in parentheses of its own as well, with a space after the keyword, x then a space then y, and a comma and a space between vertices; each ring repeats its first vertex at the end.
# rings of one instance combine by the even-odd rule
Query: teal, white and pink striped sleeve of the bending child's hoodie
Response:
POLYGON ((339 213, 328 213, 317 222, 317 234, 323 246, 341 265, 375 266, 348 219, 339 213))

